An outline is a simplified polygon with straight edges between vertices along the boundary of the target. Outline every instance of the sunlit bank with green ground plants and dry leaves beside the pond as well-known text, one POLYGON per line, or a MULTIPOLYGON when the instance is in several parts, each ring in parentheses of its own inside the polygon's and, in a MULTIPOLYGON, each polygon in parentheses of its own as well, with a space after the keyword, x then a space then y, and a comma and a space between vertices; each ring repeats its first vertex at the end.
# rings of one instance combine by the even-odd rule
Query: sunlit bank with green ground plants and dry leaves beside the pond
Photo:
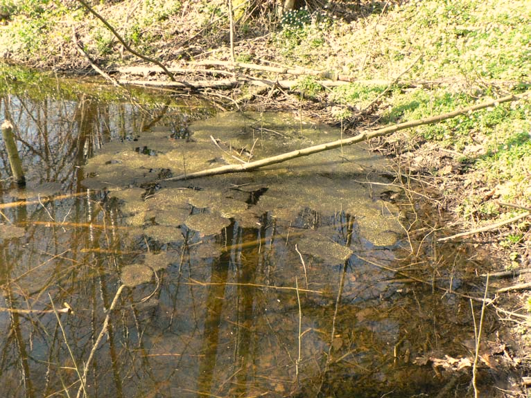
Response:
MULTIPOLYGON (((0 4, 4 58, 84 72, 89 64, 76 50, 76 35, 103 69, 139 62, 76 1, 0 4)), ((230 59, 225 1, 92 5, 133 48, 165 64, 230 59)), ((336 123, 349 125, 367 105, 378 123, 398 123, 531 87, 531 1, 367 1, 356 9, 337 2, 283 19, 266 2, 248 5, 236 10, 236 60, 306 66, 372 82, 324 89, 315 78, 299 78, 298 98, 302 93, 305 104, 336 123), (397 77, 400 84, 374 102, 397 77)), ((523 211, 500 202, 531 207, 530 115, 529 102, 513 102, 397 134, 381 148, 401 170, 442 192, 439 206, 455 215, 459 228, 478 228, 523 211)), ((530 265, 530 226, 528 217, 489 232, 491 245, 503 253, 500 267, 530 265)))

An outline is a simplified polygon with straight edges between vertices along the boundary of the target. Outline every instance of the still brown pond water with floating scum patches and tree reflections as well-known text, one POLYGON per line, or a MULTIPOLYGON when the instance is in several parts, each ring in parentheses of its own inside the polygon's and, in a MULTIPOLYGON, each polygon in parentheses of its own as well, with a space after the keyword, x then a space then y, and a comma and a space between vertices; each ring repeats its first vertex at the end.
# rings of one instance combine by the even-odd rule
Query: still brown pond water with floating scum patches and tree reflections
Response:
POLYGON ((411 205, 389 200, 384 159, 359 145, 171 179, 339 130, 190 98, 6 95, 1 117, 27 181, 2 146, 2 397, 467 392, 471 305, 434 286, 469 289, 469 253, 412 262, 411 205))

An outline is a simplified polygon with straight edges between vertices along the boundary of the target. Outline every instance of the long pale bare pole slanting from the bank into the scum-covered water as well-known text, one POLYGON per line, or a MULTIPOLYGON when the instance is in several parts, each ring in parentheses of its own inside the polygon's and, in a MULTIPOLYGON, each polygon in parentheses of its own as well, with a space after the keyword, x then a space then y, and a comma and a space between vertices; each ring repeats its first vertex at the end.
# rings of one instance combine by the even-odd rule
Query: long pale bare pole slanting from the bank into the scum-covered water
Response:
POLYGON ((333 150, 338 147, 347 146, 347 145, 353 145, 355 143, 360 143, 362 141, 369 140, 371 138, 381 137, 381 136, 387 136, 389 134, 392 134, 394 132, 398 132, 403 129, 410 129, 413 127, 418 127, 421 125, 433 125, 435 123, 439 123, 442 120, 455 118, 456 116, 469 114, 473 111, 478 111, 479 109, 485 109, 487 107, 493 107, 495 105, 501 104, 503 102, 510 102, 510 101, 516 101, 516 100, 522 100, 524 98, 528 98, 531 95, 531 92, 525 92, 523 94, 519 95, 511 95, 506 96, 503 98, 498 98, 497 100, 490 100, 487 102, 482 102, 478 105, 473 105, 471 107, 457 109, 455 111, 451 111, 447 114, 441 114, 437 116, 432 116, 430 118, 424 118, 420 120, 412 120, 410 122, 406 123, 400 123, 399 125, 392 125, 389 127, 384 127, 382 129, 377 129, 372 132, 361 132, 357 136, 347 138, 344 140, 338 140, 333 141, 331 143, 324 143, 321 145, 315 145, 313 147, 307 147, 302 150, 296 150, 292 152, 287 152, 285 154, 280 154, 277 156, 272 156, 270 158, 261 159, 259 161, 254 161, 250 163, 245 163, 244 165, 225 165, 221 166, 219 168, 214 169, 208 169, 208 170, 201 170, 199 172, 193 172, 190 174, 181 174, 176 177, 171 177, 169 179, 165 179, 164 181, 177 181, 177 180, 184 180, 184 179, 195 179, 199 177, 207 177, 207 176, 214 176, 218 174, 227 174, 227 173, 238 173, 238 172, 250 172, 252 170, 256 170, 258 168, 263 168, 268 165, 274 165, 277 163, 282 163, 285 161, 288 161, 290 159, 296 159, 302 156, 308 156, 311 154, 316 154, 318 152, 324 152, 327 150, 333 150))

